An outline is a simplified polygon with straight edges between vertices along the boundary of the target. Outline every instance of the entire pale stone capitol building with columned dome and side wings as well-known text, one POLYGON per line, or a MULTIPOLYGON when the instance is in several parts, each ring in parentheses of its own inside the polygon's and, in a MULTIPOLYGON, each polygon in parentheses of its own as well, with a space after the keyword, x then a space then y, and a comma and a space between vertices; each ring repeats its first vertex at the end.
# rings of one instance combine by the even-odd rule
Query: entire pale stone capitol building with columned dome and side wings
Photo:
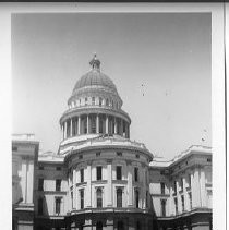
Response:
POLYGON ((13 230, 212 230, 212 148, 154 157, 131 141, 99 59, 89 64, 60 118, 58 153, 39 154, 33 134, 12 137, 13 230))

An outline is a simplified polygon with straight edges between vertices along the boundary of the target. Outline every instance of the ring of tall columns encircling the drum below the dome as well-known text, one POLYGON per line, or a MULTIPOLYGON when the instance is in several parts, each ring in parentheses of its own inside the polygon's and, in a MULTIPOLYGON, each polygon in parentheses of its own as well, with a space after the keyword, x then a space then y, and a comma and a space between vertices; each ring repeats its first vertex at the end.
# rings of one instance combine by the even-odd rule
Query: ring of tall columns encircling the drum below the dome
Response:
POLYGON ((85 113, 68 118, 62 122, 61 129, 63 140, 84 134, 117 134, 130 137, 130 123, 106 113, 85 113))

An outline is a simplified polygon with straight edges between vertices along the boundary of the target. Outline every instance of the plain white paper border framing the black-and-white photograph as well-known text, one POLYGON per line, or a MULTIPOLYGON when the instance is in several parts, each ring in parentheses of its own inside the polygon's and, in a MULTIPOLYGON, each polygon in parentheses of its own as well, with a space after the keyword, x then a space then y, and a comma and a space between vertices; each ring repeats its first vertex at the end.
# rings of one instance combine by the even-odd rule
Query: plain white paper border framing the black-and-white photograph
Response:
MULTIPOLYGON (((224 3, 0 3, 0 229, 11 228, 11 13, 212 12, 213 214, 226 229, 224 3)), ((227 8, 229 13, 229 8, 227 8)), ((228 14, 229 15, 229 14, 228 14)), ((228 27, 229 28, 229 27, 228 27)), ((228 29, 229 31, 229 29, 228 29)))

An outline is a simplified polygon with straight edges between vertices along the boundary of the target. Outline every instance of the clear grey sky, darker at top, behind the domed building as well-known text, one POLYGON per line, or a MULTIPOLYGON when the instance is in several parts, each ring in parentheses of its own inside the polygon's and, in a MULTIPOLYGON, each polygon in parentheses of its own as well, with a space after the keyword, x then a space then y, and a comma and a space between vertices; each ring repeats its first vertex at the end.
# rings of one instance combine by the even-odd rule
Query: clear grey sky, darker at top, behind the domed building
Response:
POLYGON ((210 13, 12 15, 13 133, 57 153, 59 119, 94 52, 131 119, 131 140, 171 159, 212 145, 210 13))

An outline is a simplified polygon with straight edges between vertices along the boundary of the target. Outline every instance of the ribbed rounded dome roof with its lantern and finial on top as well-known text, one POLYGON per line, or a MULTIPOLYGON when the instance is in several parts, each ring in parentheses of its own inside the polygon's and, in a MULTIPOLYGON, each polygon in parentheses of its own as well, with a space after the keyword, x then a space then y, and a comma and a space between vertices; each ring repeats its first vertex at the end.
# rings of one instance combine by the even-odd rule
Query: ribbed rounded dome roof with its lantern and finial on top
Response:
POLYGON ((89 62, 92 70, 83 75, 75 84, 73 94, 83 87, 88 86, 104 86, 109 88, 111 92, 117 93, 117 87, 107 75, 100 72, 100 61, 94 56, 93 60, 89 62))

